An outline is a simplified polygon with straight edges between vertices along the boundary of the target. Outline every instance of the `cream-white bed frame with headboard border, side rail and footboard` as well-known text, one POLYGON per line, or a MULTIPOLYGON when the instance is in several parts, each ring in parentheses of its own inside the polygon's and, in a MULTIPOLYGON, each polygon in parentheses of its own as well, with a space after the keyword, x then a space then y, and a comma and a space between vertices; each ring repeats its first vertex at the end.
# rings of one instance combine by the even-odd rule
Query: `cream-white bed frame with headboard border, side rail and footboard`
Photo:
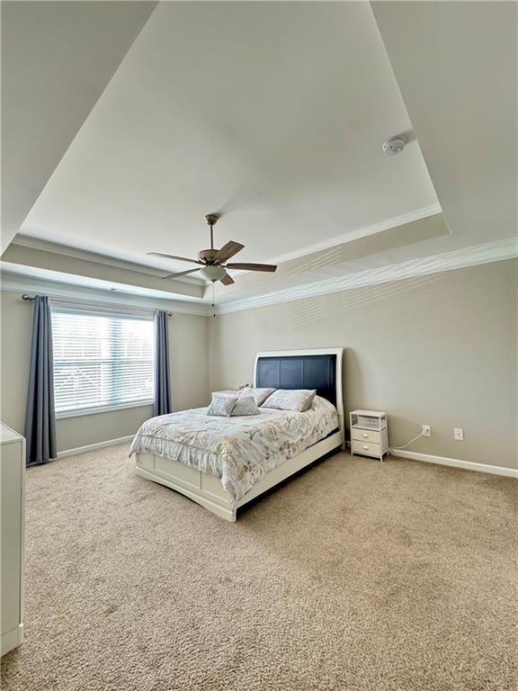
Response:
POLYGON ((317 444, 313 444, 297 456, 293 456, 288 461, 267 472, 262 480, 259 480, 252 489, 237 503, 237 507, 232 507, 232 500, 228 492, 223 489, 218 478, 209 473, 202 472, 196 468, 190 468, 183 463, 163 458, 155 453, 137 453, 137 473, 147 480, 154 480, 165 487, 175 489, 185 497, 201 504, 202 507, 209 509, 213 514, 225 518, 227 521, 236 520, 237 508, 243 507, 246 503, 263 494, 267 489, 271 489, 279 482, 289 478, 294 472, 304 468, 309 463, 317 461, 318 458, 326 455, 334 449, 344 448, 344 398, 342 394, 342 355, 343 348, 321 348, 315 350, 274 350, 257 353, 254 366, 254 385, 256 385, 257 361, 261 357, 289 357, 298 355, 336 355, 336 410, 338 411, 339 429, 333 434, 326 436, 317 444))

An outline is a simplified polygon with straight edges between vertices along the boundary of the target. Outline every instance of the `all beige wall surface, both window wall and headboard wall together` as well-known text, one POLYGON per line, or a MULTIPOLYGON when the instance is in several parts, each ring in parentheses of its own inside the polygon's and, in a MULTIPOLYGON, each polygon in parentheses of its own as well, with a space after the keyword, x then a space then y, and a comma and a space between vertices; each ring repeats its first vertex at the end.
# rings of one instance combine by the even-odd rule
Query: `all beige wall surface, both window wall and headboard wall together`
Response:
MULTIPOLYGON (((174 409, 251 381, 258 350, 344 346, 345 409, 383 408, 390 444, 517 466, 518 262, 433 274, 217 318, 169 319, 174 409), (210 348, 209 348, 210 345, 210 348), (210 369, 210 377, 209 377, 210 369), (462 426, 465 442, 455 442, 462 426)), ((1 292, 1 417, 23 432, 31 306, 1 292)), ((58 450, 133 434, 150 407, 58 420, 58 450)))

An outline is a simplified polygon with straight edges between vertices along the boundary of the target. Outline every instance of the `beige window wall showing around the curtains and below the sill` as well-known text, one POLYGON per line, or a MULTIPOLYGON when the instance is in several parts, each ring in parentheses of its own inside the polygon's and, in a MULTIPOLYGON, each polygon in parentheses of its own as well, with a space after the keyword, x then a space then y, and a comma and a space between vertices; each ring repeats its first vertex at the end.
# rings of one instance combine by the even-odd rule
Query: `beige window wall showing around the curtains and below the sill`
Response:
MULTIPOLYGON (((1 292, 1 412, 6 425, 23 433, 29 377, 31 305, 21 292, 1 292)), ((169 318, 172 396, 175 410, 205 405, 209 396, 208 319, 169 318)), ((150 406, 58 419, 58 451, 134 434, 152 415, 150 406)))

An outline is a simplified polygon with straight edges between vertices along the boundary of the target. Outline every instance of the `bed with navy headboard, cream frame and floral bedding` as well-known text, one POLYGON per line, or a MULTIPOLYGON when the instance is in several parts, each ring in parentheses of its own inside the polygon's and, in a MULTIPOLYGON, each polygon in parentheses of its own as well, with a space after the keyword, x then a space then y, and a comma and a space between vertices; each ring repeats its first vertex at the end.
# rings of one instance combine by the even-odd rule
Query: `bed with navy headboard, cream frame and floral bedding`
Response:
POLYGON ((152 417, 130 453, 136 471, 228 521, 237 509, 293 473, 344 447, 342 348, 268 351, 255 357, 254 386, 316 389, 303 413, 261 407, 246 417, 206 408, 152 417))

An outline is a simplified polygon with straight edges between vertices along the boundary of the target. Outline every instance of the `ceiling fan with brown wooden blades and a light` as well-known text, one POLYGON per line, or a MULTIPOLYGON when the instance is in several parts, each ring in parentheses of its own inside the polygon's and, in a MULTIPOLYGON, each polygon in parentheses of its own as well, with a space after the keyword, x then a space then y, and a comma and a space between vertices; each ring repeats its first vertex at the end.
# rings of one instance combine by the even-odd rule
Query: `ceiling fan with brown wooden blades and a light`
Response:
POLYGON ((195 274, 200 272, 201 276, 212 283, 221 281, 223 285, 230 285, 235 283, 232 277, 227 273, 227 269, 242 269, 245 271, 270 271, 273 272, 277 268, 273 264, 226 264, 228 259, 231 259, 237 252, 240 252, 244 245, 230 240, 227 245, 221 249, 214 249, 213 227, 219 220, 219 214, 209 213, 205 216, 205 221, 210 226, 210 249, 201 249, 198 253, 198 259, 188 259, 185 256, 164 255, 162 252, 148 252, 148 255, 165 256, 167 259, 175 259, 179 262, 190 262, 191 264, 199 264, 200 267, 196 269, 188 269, 177 274, 168 274, 162 278, 176 278, 176 276, 185 276, 187 274, 195 274))

